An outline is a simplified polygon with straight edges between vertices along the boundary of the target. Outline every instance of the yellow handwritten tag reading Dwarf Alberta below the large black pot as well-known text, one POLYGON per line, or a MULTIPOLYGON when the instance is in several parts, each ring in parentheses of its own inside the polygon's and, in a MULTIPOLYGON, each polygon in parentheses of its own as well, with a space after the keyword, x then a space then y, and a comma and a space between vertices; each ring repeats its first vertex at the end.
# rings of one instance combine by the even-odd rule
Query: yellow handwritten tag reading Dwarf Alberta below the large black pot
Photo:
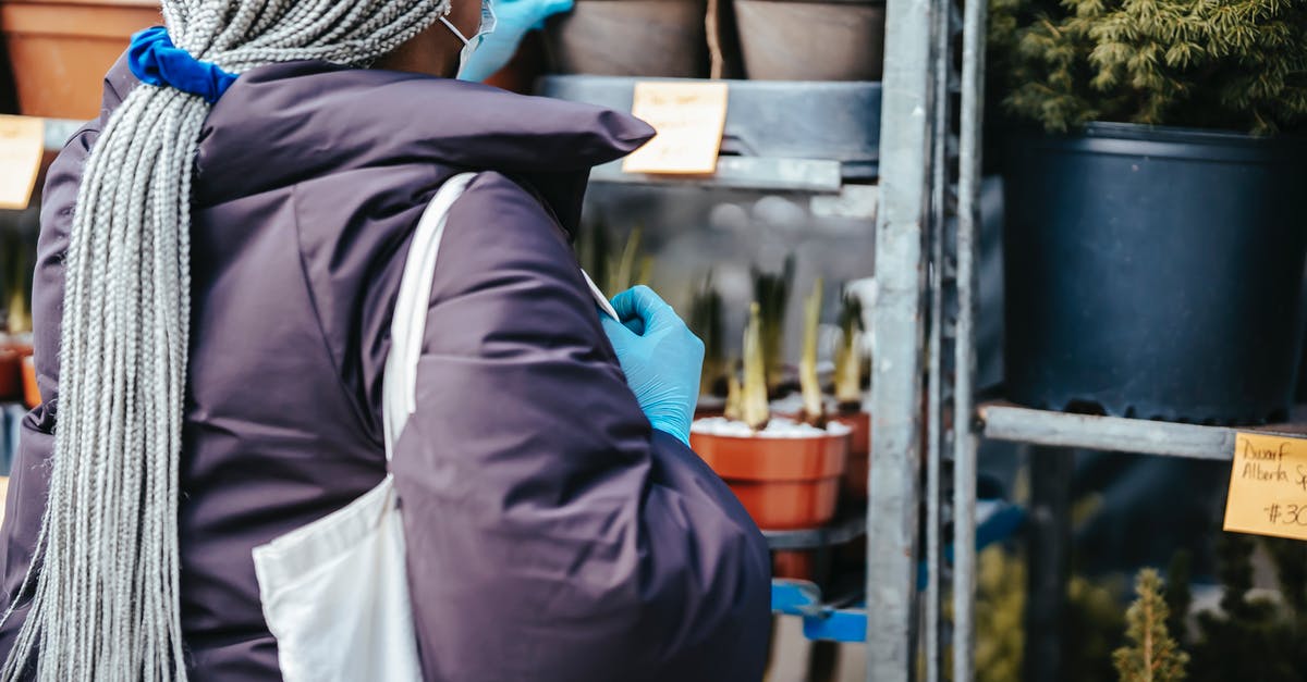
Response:
POLYGON ((1307 440, 1235 436, 1225 529, 1307 540, 1307 440))

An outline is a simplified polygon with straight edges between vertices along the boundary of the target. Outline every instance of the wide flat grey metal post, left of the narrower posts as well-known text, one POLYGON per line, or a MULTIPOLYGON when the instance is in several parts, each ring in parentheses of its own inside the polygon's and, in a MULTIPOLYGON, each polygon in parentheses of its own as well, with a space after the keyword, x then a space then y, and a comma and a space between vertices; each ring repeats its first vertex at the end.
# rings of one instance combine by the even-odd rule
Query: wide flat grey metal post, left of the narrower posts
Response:
POLYGON ((872 312, 872 463, 867 510, 867 679, 912 678, 921 500, 923 226, 931 188, 933 10, 887 0, 881 108, 878 300, 872 312))

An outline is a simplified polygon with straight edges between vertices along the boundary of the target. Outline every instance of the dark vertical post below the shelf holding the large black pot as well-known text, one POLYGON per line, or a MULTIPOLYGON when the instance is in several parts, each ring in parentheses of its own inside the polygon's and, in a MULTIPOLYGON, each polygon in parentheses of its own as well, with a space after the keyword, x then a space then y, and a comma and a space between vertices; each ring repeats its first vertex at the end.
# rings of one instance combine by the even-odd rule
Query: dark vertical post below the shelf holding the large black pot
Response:
POLYGON ((1073 451, 1030 448, 1030 597, 1026 602, 1026 682, 1063 679, 1063 625, 1070 579, 1073 451))

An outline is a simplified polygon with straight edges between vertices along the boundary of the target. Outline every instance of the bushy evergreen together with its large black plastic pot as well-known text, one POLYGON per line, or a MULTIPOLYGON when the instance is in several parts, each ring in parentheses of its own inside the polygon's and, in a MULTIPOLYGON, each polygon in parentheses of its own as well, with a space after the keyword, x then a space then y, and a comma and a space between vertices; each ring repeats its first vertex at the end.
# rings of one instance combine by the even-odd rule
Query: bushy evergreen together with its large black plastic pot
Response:
POLYGON ((1017 402, 1263 422, 1307 256, 1307 3, 991 0, 1017 402), (1249 320, 1274 333, 1248 333, 1249 320))

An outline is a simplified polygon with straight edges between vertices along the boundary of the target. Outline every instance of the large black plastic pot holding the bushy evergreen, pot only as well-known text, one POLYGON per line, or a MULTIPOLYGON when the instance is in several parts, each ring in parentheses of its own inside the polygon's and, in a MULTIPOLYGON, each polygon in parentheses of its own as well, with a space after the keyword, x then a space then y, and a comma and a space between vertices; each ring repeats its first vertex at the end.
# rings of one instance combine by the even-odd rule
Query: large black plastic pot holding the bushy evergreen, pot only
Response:
POLYGON ((1286 414, 1303 141, 1091 124, 1014 133, 1005 157, 1012 400, 1193 422, 1286 414))

